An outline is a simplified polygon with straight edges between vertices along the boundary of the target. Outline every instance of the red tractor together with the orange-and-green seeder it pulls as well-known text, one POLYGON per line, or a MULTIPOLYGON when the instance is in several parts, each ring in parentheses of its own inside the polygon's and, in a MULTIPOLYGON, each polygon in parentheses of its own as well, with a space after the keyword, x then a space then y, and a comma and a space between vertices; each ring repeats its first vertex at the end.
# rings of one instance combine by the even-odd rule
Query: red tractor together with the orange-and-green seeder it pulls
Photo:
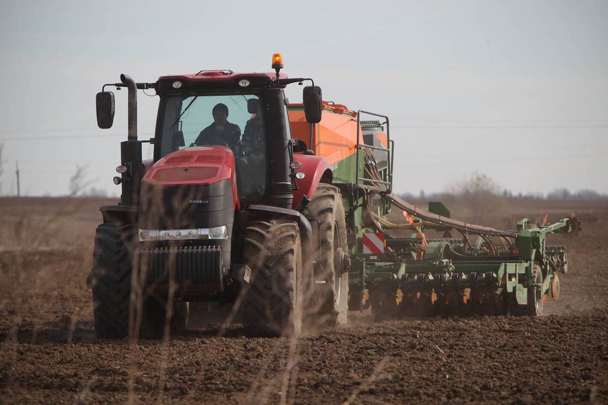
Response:
POLYGON ((100 338, 179 333, 200 305, 224 308, 224 323, 242 318, 247 335, 298 336, 303 319, 346 324, 368 307, 377 320, 539 316, 559 298, 567 254, 546 236, 578 234, 578 219, 497 230, 452 219, 440 202, 414 206, 392 191, 387 115, 323 101, 311 78, 280 73, 280 54, 272 69, 121 75, 97 94, 98 126, 110 128, 105 87, 128 89, 122 195, 100 208, 91 271, 100 338), (289 104, 283 89, 305 81, 303 103, 289 104), (138 89, 159 96, 150 140, 137 138, 138 89), (389 221, 395 208, 406 223, 389 221))

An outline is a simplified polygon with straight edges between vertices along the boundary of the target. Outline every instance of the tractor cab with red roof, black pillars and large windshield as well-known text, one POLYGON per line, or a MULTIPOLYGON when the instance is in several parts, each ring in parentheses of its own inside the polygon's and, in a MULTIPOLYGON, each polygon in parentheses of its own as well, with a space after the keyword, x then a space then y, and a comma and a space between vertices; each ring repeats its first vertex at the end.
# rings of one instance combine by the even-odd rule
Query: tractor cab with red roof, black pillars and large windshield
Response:
MULTIPOLYGON (((154 162, 171 155, 170 162, 206 168, 218 162, 224 153, 232 153, 240 204, 268 200, 271 189, 268 140, 278 138, 283 143, 287 141, 288 146, 291 140, 288 121, 283 128, 269 124, 277 117, 287 117, 285 103, 278 100, 278 111, 262 108, 264 104, 269 106, 267 100, 271 98, 284 98, 282 89, 264 91, 272 83, 270 76, 221 70, 160 78, 154 162), (187 155, 194 160, 185 158, 187 155)), ((204 177, 213 171, 199 172, 204 177)))

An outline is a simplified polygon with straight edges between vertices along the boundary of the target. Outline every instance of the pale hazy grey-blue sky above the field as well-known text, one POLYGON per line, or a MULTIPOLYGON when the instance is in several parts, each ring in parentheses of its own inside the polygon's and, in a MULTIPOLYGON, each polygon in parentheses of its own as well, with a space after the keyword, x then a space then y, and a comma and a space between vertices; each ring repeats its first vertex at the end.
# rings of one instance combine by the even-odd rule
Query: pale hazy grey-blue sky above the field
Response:
MULTIPOLYGON (((0 0, 0 38, 0 196, 16 194, 16 162, 21 195, 66 195, 77 168, 88 188, 119 195, 126 90, 114 126, 98 129, 104 83, 271 71, 275 52, 325 100, 389 115, 396 192, 479 172, 514 193, 608 193, 606 0, 0 0)), ((148 94, 143 139, 158 105, 148 94)))

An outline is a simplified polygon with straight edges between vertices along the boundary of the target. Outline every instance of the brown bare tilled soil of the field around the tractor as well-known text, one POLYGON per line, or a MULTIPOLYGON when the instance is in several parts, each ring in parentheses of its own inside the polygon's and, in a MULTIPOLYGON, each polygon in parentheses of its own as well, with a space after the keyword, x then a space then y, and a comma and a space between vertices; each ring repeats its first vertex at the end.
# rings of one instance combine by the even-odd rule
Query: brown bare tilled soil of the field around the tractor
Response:
MULTIPOLYGON (((1 401, 608 403, 607 202, 506 200, 484 222, 581 220, 578 237, 551 237, 570 268, 541 318, 373 323, 356 312, 297 341, 246 338, 238 324, 218 337, 212 324, 137 344, 95 339, 85 277, 108 203, 0 199, 1 401)), ((459 203, 446 204, 452 216, 471 220, 459 203)))

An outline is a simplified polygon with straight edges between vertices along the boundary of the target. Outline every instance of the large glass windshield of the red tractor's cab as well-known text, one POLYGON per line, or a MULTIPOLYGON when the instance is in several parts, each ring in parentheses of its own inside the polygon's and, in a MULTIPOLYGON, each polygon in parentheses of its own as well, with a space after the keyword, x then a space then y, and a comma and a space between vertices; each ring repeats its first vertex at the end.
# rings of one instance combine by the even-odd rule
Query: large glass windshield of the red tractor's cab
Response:
POLYGON ((222 145, 232 149, 241 202, 266 191, 266 137, 257 95, 164 98, 159 158, 178 149, 222 145))

